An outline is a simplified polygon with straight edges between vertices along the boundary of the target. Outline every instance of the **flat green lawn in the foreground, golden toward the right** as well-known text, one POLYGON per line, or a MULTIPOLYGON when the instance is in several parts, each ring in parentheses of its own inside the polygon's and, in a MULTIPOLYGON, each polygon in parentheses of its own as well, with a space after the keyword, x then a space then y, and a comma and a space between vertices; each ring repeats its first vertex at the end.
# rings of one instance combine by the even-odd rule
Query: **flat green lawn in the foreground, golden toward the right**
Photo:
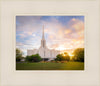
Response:
POLYGON ((16 70, 84 70, 84 63, 16 63, 16 70))

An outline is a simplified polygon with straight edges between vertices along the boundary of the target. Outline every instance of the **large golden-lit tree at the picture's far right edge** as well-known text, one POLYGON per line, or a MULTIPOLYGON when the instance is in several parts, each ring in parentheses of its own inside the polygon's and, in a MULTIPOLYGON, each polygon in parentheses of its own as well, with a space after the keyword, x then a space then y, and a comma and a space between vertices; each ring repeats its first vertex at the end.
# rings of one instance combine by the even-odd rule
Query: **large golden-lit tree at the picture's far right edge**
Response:
POLYGON ((84 48, 77 48, 73 52, 73 60, 84 62, 84 48))

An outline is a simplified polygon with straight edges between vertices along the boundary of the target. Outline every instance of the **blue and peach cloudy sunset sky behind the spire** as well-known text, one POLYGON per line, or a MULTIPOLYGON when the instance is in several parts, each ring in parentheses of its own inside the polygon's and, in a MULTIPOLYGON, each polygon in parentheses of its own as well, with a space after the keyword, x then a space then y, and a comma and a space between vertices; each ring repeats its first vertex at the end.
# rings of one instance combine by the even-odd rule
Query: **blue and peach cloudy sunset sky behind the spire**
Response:
POLYGON ((84 16, 16 16, 16 48, 25 56, 27 49, 40 47, 43 25, 49 49, 84 48, 84 16))

